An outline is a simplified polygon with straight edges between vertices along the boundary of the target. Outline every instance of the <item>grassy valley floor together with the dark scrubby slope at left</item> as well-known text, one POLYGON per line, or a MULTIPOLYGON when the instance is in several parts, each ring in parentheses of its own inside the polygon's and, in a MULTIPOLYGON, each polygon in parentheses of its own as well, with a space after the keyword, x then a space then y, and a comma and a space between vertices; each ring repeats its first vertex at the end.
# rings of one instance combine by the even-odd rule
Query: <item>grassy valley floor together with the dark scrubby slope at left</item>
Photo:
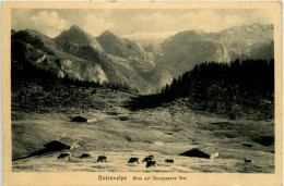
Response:
MULTIPOLYGON (((57 50, 55 53, 66 57, 57 50)), ((13 171, 274 172, 274 122, 258 121, 257 113, 251 113, 253 120, 228 121, 193 112, 178 101, 132 112, 122 107, 133 97, 129 94, 83 87, 72 87, 69 92, 62 85, 47 89, 36 79, 31 82, 12 84, 13 159, 61 137, 72 138, 80 147, 71 150, 70 162, 57 160, 60 152, 55 152, 13 161, 13 171), (95 120, 84 124, 70 122, 75 115, 95 120), (118 120, 122 115, 129 120, 118 120), (270 139, 269 145, 261 145, 263 137, 270 139), (178 156, 204 144, 217 148, 220 158, 178 156), (79 159, 83 152, 93 158, 79 159), (97 156, 103 153, 109 161, 97 163, 97 156), (141 160, 147 154, 155 156, 156 168, 127 163, 130 157, 141 160), (175 159, 175 163, 166 164, 166 158, 175 159), (253 164, 246 165, 245 158, 252 159, 253 164)))

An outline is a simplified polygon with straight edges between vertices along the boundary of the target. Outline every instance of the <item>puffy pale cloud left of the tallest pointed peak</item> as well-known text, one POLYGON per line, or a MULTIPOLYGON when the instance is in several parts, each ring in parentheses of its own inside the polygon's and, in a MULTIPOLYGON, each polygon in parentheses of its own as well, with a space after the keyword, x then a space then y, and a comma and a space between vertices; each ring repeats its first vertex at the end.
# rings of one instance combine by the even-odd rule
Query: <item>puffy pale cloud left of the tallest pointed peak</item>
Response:
POLYGON ((63 29, 68 28, 67 21, 61 18, 56 11, 40 11, 36 15, 32 15, 29 20, 33 23, 33 27, 49 37, 56 37, 63 29))

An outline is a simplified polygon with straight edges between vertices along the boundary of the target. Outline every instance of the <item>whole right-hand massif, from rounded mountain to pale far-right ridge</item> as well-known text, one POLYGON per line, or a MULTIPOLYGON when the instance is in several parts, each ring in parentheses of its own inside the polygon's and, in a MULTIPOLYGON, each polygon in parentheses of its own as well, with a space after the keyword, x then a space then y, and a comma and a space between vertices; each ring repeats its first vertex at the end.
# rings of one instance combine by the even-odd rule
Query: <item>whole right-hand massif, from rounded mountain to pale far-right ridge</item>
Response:
POLYGON ((244 25, 220 33, 181 32, 162 44, 162 55, 156 62, 167 65, 169 73, 177 77, 205 61, 271 60, 272 41, 273 25, 244 25))

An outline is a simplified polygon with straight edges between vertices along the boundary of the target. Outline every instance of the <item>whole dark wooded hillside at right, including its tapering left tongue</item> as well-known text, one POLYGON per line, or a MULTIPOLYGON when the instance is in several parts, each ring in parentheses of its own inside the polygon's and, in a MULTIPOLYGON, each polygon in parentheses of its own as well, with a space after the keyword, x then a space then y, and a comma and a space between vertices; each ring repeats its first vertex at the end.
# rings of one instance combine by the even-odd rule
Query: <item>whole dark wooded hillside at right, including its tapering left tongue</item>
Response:
POLYGON ((166 85, 161 94, 133 98, 126 107, 132 110, 155 108, 179 98, 186 98, 181 102, 189 108, 226 113, 230 119, 252 110, 261 112, 263 119, 272 119, 274 60, 202 63, 166 85))

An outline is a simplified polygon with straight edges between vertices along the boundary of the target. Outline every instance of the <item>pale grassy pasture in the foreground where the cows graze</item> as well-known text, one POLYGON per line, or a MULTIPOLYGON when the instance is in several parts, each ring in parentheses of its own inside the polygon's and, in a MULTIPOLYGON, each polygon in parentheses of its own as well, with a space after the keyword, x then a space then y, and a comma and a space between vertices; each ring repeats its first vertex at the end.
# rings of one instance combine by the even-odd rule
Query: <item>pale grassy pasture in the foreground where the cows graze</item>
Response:
POLYGON ((187 107, 159 107, 129 111, 110 109, 27 113, 12 111, 13 171, 90 172, 232 172, 274 173, 274 121, 228 120, 187 107), (71 122, 82 115, 87 123, 71 122), (58 160, 60 151, 24 158, 52 140, 75 142, 71 160, 58 160), (216 159, 181 157, 206 145, 218 150, 216 159), (82 153, 90 159, 80 159, 82 153), (97 162, 106 154, 107 162, 97 162), (142 160, 153 154, 156 166, 142 160), (23 159, 21 159, 23 158, 23 159), (139 158, 140 163, 128 163, 139 158), (174 163, 166 163, 174 159, 174 163), (251 159, 252 164, 246 164, 251 159))

